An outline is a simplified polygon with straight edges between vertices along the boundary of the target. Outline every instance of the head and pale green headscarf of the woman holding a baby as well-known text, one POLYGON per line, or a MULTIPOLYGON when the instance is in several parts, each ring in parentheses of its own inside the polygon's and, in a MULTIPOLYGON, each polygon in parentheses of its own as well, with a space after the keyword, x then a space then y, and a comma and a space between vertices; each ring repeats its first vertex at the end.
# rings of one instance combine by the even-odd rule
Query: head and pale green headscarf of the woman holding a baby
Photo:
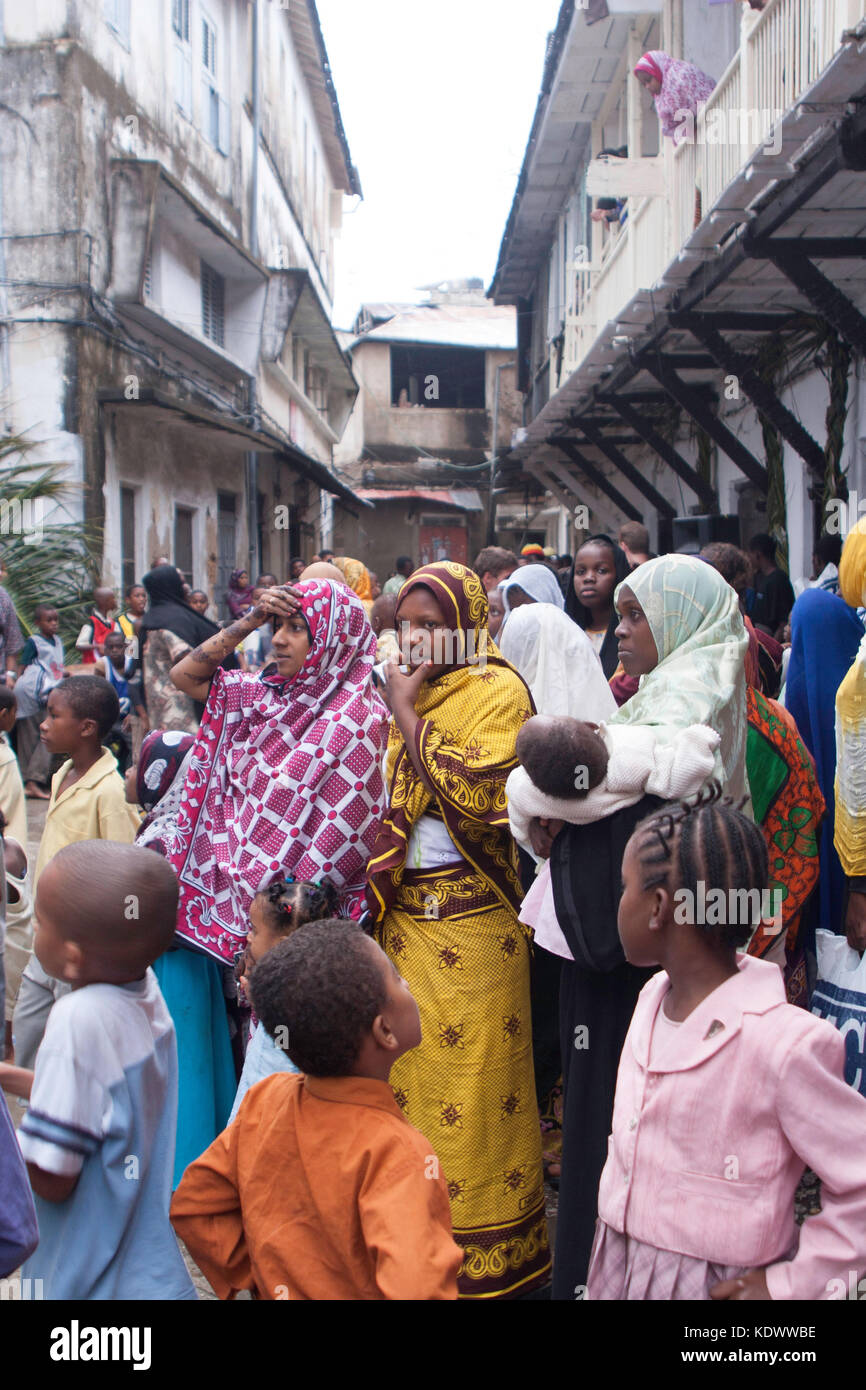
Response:
POLYGON ((619 656, 637 694, 612 724, 652 724, 660 741, 689 724, 709 724, 721 738, 714 776, 740 802, 745 773, 746 635, 737 594, 706 560, 662 555, 619 585, 619 656))

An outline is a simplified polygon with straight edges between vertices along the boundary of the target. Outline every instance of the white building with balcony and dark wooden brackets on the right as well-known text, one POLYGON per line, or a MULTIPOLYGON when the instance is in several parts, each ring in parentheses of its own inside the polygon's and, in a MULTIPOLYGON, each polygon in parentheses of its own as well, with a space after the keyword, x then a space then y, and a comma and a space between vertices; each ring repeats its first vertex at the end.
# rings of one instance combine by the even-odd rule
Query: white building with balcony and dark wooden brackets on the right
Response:
POLYGON ((489 291, 518 316, 506 481, 544 485, 571 543, 728 516, 808 577, 828 500, 866 492, 866 4, 606 8, 562 6, 489 291), (716 81, 678 145, 632 76, 651 49, 716 81))

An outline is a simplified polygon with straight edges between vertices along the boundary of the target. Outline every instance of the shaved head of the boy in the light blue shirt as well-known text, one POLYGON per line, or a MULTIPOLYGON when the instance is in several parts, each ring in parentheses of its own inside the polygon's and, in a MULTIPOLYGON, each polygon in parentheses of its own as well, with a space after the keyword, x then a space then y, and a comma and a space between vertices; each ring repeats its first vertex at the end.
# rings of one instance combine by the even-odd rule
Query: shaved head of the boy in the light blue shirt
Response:
POLYGON ((82 840, 42 870, 33 949, 49 974, 75 988, 125 984, 170 948, 177 915, 178 880, 160 855, 82 840))

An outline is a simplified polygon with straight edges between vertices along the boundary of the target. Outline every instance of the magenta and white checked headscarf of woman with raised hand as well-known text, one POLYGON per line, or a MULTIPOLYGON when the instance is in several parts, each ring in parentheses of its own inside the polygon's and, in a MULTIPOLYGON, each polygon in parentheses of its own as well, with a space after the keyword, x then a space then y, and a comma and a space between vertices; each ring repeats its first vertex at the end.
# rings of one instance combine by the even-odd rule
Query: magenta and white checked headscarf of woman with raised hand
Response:
POLYGON ((217 670, 168 845, 178 935, 224 962, 245 944, 252 899, 279 874, 327 874, 341 910, 360 915, 384 809, 388 712, 364 607, 331 580, 296 589, 310 652, 291 681, 274 666, 217 670))

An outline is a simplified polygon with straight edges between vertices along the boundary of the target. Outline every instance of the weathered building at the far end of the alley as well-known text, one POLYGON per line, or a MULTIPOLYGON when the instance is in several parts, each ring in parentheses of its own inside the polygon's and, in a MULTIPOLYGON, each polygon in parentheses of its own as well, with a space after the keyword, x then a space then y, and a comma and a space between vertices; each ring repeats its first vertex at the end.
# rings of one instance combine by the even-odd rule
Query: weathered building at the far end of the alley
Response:
POLYGON ((361 307, 346 338, 359 396, 336 460, 371 503, 352 543, 379 577, 398 555, 471 563, 485 543, 493 448, 505 455, 520 423, 516 345, 514 311, 481 282, 361 307))

